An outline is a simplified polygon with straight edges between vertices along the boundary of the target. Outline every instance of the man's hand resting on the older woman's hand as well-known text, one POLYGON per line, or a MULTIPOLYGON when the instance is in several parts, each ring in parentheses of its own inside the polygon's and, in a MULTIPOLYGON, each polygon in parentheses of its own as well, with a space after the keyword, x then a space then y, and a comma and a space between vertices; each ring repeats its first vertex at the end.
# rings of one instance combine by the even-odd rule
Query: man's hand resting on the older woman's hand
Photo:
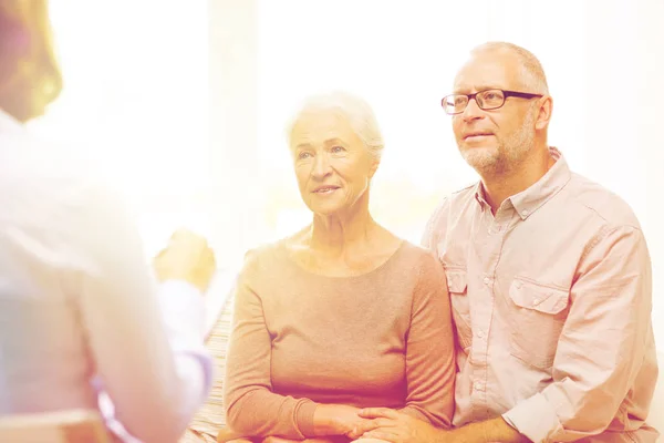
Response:
POLYGON ((446 436, 446 431, 387 408, 363 409, 360 416, 370 420, 356 425, 351 437, 378 439, 392 443, 442 443, 449 436, 446 436))

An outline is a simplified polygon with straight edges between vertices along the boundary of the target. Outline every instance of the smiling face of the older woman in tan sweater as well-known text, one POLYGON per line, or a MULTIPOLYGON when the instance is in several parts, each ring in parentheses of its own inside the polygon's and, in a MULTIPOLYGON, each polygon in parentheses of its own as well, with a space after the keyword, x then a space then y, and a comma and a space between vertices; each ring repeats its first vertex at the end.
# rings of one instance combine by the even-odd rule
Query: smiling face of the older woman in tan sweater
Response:
POLYGON ((377 161, 334 110, 304 113, 291 132, 291 152, 300 194, 320 215, 341 215, 369 205, 366 192, 377 161))

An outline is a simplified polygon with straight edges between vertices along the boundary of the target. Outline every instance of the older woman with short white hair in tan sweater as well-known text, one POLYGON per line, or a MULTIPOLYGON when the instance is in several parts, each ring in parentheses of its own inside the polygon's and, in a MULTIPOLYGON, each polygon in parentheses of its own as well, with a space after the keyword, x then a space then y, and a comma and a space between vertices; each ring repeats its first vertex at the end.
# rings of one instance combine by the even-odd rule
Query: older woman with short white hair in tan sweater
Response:
POLYGON ((313 220, 247 257, 219 441, 347 442, 366 406, 449 426, 455 361, 445 275, 370 214, 383 150, 373 112, 349 94, 315 96, 289 137, 313 220))

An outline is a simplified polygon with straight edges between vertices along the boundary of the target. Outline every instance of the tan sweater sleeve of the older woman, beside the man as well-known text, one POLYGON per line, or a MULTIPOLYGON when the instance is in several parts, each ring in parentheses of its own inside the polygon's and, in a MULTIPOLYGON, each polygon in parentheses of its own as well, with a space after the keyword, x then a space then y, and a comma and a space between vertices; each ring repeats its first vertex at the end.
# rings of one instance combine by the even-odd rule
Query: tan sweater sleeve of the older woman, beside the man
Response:
POLYGON ((449 427, 456 377, 449 295, 443 267, 433 256, 426 258, 413 296, 406 344, 408 392, 402 412, 449 427))

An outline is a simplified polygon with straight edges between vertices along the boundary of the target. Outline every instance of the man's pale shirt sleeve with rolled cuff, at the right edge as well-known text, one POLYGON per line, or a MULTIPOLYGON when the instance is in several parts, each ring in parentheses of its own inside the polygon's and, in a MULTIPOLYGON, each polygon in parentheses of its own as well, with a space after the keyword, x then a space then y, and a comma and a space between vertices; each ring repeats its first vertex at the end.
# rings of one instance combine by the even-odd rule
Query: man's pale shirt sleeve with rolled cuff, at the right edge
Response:
POLYGON ((553 383, 504 418, 533 442, 602 433, 652 339, 651 261, 640 229, 605 229, 581 260, 553 362, 553 383))

